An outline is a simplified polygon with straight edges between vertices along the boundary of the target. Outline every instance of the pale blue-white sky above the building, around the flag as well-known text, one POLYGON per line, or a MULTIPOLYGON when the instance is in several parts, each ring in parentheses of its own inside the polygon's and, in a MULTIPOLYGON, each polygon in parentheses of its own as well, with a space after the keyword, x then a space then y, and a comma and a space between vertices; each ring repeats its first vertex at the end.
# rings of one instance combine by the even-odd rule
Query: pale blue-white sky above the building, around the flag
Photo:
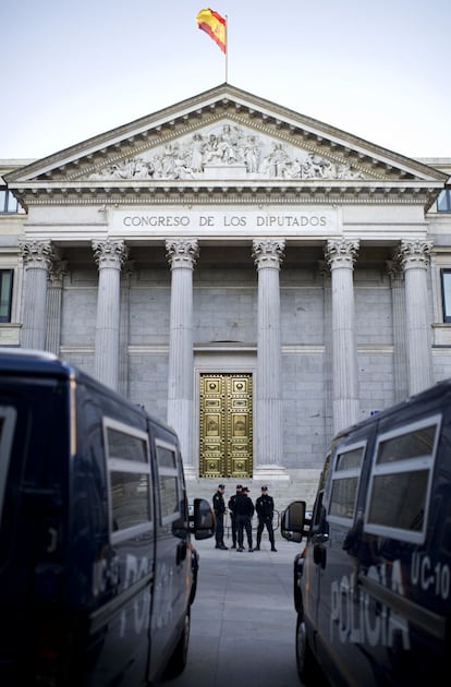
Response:
POLYGON ((450 26, 450 0, 3 0, 0 159, 58 153, 226 75, 389 150, 451 158, 450 26), (208 7, 227 16, 227 60, 197 27, 208 7))

